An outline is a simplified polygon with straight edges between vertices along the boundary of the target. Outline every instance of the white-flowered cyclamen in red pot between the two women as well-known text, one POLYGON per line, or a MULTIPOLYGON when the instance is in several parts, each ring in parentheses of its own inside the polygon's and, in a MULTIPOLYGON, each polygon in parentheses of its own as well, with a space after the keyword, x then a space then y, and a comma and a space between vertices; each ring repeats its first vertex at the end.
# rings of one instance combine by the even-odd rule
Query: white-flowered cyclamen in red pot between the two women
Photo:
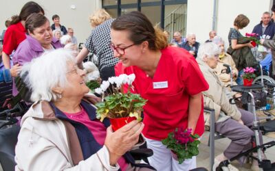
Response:
POLYGON ((95 92, 102 95, 102 102, 97 103, 97 118, 101 121, 109 118, 113 131, 120 129, 132 120, 141 121, 141 112, 146 100, 140 94, 130 92, 135 75, 120 75, 110 77, 108 81, 103 81, 100 88, 95 92), (111 86, 110 86, 111 85, 111 86), (124 85, 128 86, 124 92, 124 85), (110 91, 106 91, 108 88, 110 91), (112 92, 112 93, 109 93, 112 92))

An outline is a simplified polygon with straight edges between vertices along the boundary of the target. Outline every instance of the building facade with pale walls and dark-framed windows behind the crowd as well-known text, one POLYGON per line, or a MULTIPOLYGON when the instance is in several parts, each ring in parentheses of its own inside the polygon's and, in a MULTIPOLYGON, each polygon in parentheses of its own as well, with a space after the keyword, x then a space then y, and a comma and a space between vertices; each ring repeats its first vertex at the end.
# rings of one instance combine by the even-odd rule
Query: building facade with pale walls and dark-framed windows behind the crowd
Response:
MULTIPOLYGON (((19 14, 29 0, 9 0, 0 11, 0 32, 5 29, 5 20, 19 14)), ((272 0, 34 0, 45 10, 45 16, 52 24, 52 15, 61 17, 61 25, 74 28, 78 42, 84 42, 91 32, 89 15, 99 8, 105 8, 114 18, 139 10, 146 14, 154 25, 170 32, 181 31, 197 35, 198 42, 208 39, 213 28, 228 44, 228 31, 238 14, 250 18, 250 24, 241 30, 250 33, 261 21, 263 12, 270 12, 272 0)))

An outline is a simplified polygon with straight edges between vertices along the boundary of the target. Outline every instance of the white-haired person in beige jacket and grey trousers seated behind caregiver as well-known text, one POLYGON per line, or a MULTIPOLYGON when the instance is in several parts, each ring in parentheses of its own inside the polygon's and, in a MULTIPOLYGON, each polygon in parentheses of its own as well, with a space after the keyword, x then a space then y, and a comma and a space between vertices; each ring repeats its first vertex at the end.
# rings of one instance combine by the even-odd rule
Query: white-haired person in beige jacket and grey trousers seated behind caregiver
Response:
MULTIPOLYGON (((213 170, 221 161, 232 159, 239 153, 252 147, 253 114, 243 109, 238 109, 236 105, 231 105, 229 99, 232 98, 230 92, 220 81, 214 68, 217 67, 220 49, 213 42, 206 42, 199 47, 197 62, 209 89, 203 92, 204 106, 215 110, 215 131, 218 131, 232 142, 223 153, 214 160, 213 170)), ((210 123, 209 114, 205 116, 206 126, 210 123)), ((239 159, 241 161, 241 159, 239 159)), ((242 162, 242 161, 241 161, 242 162)), ((254 163, 257 166, 257 163, 254 163)), ((228 166, 230 170, 237 170, 232 165, 228 166)))

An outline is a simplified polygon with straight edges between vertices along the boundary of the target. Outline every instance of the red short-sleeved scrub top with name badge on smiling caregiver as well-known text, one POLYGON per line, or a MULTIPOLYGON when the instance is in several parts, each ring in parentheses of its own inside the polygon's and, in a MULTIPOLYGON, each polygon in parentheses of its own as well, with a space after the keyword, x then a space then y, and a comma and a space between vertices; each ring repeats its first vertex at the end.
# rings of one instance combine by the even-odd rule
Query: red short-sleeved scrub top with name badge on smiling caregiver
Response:
MULTIPOLYGON (((190 95, 208 90, 208 83, 201 70, 188 51, 167 47, 161 50, 157 69, 153 78, 146 73, 129 66, 125 68, 119 62, 115 66, 115 75, 135 74, 133 92, 147 99, 144 106, 144 136, 152 140, 163 140, 176 127, 188 126, 188 105, 190 95)), ((201 96, 201 114, 195 133, 204 131, 203 98, 201 96)))

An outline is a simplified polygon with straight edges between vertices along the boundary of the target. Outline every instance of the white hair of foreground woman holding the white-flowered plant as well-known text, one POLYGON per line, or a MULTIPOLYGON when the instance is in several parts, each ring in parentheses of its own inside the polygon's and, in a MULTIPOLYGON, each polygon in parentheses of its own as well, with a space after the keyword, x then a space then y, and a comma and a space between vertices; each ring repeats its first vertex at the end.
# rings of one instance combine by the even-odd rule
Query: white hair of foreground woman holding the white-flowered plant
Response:
POLYGON ((56 101, 58 94, 54 93, 52 88, 56 86, 63 88, 68 83, 66 77, 68 62, 76 64, 72 51, 57 49, 44 53, 23 66, 20 76, 28 75, 24 82, 32 91, 30 97, 32 101, 56 101))

